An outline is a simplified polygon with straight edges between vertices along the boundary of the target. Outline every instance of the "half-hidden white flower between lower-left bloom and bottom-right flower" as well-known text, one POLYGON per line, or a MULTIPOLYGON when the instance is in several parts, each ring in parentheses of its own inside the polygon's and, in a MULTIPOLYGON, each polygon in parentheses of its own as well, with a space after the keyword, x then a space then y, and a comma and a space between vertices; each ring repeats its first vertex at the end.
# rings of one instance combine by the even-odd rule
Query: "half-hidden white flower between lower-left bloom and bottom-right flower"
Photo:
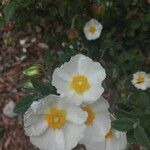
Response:
MULTIPOLYGON (((86 130, 81 144, 104 141, 105 135, 111 128, 111 120, 108 112, 109 104, 104 98, 100 98, 92 105, 84 105, 83 110, 88 113, 85 122, 86 130)), ((97 149, 98 150, 98 149, 97 149)))

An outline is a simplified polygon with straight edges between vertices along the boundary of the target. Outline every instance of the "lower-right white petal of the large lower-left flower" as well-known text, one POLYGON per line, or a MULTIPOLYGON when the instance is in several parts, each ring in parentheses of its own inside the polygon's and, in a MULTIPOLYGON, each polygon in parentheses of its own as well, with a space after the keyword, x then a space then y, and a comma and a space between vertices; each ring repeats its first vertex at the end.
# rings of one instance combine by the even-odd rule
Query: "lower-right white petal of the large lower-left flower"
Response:
POLYGON ((74 148, 79 141, 83 138, 85 130, 85 125, 75 125, 72 123, 68 123, 64 128, 65 142, 66 147, 65 150, 71 150, 74 148))

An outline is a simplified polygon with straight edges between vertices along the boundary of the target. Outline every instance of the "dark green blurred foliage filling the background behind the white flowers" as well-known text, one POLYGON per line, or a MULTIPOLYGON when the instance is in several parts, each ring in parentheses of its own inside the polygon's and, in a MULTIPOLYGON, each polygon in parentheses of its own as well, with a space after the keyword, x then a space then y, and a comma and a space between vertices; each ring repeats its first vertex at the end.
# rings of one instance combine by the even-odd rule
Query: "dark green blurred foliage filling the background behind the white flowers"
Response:
MULTIPOLYGON (((112 126, 128 131, 129 142, 150 146, 150 90, 137 90, 130 82, 134 72, 150 69, 149 0, 1 0, 0 3, 1 32, 35 32, 41 28, 49 46, 43 57, 45 72, 50 65, 55 68, 77 53, 101 62, 108 74, 105 89, 117 91, 111 111, 118 120, 112 126), (101 37, 95 41, 88 41, 83 34, 90 18, 103 25, 101 37)), ((31 99, 55 93, 48 83, 32 79, 32 84, 40 91, 36 92, 38 96, 24 97, 16 112, 27 109, 26 100, 29 106, 31 99)))

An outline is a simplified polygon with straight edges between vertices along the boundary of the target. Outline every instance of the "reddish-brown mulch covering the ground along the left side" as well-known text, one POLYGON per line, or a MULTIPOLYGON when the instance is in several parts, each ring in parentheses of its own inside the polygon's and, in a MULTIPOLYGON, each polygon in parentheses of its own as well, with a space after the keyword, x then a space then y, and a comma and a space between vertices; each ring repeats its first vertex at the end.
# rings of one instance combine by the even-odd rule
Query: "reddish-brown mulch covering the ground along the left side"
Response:
MULTIPOLYGON (((42 42, 40 34, 20 32, 11 35, 12 45, 5 42, 8 33, 1 33, 0 41, 0 125, 4 131, 0 132, 0 150, 34 150, 35 148, 25 136, 21 117, 8 118, 3 115, 3 107, 10 101, 17 103, 25 91, 21 87, 25 79, 22 71, 31 64, 42 64, 44 49, 37 44, 42 42), (36 38, 34 43, 28 43, 27 52, 22 50, 20 39, 36 38)), ((30 41, 29 41, 30 42, 30 41)))

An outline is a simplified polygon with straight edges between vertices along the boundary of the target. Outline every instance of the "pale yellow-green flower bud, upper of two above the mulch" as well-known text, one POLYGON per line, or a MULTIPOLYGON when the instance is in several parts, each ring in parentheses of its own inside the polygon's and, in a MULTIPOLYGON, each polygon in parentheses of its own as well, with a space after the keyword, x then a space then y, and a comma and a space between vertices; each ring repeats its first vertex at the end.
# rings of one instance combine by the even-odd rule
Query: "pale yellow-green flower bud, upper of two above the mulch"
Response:
POLYGON ((40 76, 43 73, 43 66, 40 64, 32 65, 31 67, 25 69, 23 74, 28 77, 40 76))

